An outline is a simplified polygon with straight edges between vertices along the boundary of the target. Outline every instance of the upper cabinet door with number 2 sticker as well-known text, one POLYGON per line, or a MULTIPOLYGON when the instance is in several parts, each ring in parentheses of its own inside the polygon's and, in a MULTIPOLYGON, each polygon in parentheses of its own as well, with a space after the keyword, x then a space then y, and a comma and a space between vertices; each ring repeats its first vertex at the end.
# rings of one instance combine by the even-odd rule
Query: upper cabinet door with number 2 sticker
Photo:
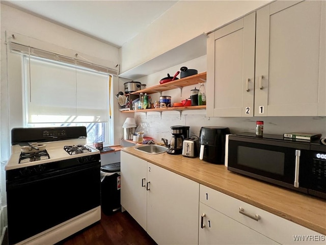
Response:
POLYGON ((256 13, 211 34, 207 41, 207 116, 254 115, 256 13))

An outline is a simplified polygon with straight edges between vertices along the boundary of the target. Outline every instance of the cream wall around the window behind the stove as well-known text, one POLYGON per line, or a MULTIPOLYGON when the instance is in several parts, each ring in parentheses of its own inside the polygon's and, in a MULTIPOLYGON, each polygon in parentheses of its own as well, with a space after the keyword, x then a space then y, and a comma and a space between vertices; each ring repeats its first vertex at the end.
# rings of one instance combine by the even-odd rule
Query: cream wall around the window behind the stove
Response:
MULTIPOLYGON (((2 159, 9 156, 11 128, 22 127, 20 58, 13 54, 7 57, 5 41, 12 40, 68 57, 74 57, 77 53, 78 59, 110 68, 115 68, 119 63, 118 48, 3 4, 1 4, 1 40, 2 159)), ((113 82, 113 91, 118 93, 118 78, 114 78, 113 82)), ((116 100, 114 102, 113 111, 118 112, 118 103, 116 100)), ((120 128, 119 115, 115 118, 115 126, 120 128)), ((115 143, 119 143, 118 138, 115 143)))

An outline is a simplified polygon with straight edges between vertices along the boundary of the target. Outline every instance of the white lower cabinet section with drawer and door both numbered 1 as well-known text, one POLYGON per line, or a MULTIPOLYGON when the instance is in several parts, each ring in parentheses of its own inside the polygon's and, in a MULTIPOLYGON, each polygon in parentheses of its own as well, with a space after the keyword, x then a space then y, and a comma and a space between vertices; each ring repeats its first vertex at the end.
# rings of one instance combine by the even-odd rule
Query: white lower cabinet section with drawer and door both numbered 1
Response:
MULTIPOLYGON (((200 185, 199 244, 325 244, 317 233, 200 185), (209 227, 210 226, 210 227, 209 227)), ((282 202, 282 200, 280 200, 282 202)))

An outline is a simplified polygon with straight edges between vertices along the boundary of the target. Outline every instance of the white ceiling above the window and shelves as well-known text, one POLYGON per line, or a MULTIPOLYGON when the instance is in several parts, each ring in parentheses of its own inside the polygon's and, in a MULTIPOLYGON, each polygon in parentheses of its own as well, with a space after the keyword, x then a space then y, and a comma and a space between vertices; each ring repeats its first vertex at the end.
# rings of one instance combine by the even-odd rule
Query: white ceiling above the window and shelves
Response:
POLYGON ((178 1, 1 1, 116 47, 137 36, 178 1))

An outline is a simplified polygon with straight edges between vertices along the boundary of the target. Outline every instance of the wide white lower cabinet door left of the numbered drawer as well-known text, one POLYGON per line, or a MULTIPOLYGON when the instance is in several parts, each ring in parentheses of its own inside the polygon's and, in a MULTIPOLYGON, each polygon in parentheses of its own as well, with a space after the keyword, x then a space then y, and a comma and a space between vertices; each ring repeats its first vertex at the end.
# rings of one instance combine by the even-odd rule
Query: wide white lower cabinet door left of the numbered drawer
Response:
POLYGON ((158 244, 197 244, 199 184, 148 163, 147 233, 158 244))

